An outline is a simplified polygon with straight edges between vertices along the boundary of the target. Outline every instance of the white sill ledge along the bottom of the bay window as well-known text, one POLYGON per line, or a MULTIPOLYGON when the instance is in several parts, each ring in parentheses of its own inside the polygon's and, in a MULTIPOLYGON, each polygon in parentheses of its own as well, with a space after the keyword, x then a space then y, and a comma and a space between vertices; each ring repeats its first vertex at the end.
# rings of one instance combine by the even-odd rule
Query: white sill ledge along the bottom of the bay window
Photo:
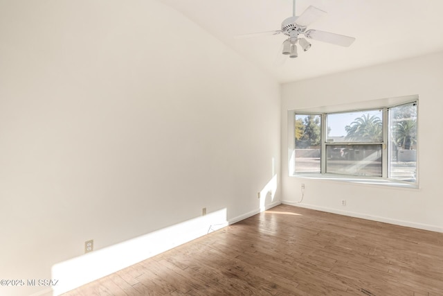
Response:
POLYGON ((418 183, 404 182, 400 180, 393 179, 383 179, 381 177, 357 177, 357 176, 343 176, 335 174, 320 174, 320 173, 295 173, 289 175, 290 177, 298 177, 302 179, 312 179, 312 180, 332 180, 340 182, 349 182, 357 184, 368 184, 368 185, 382 185, 382 186, 395 186, 401 188, 418 189, 418 183))

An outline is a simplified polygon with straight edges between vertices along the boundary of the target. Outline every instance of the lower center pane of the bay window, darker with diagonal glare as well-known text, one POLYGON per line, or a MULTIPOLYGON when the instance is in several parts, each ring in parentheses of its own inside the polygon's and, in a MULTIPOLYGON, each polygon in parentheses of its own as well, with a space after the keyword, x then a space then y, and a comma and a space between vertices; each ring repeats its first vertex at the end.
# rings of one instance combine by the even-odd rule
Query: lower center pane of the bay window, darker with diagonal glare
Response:
POLYGON ((381 145, 327 145, 326 173, 381 177, 381 145))

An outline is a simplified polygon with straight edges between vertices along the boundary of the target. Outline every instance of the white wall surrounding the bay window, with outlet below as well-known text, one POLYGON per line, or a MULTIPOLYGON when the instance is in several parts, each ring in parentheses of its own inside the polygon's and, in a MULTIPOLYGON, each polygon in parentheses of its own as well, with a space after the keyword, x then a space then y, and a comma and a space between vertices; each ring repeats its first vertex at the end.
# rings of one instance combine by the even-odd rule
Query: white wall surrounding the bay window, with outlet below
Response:
POLYGON ((443 232, 443 53, 282 85, 282 202, 443 232), (419 189, 288 175, 287 110, 419 95, 419 189), (343 207, 341 200, 347 200, 343 207))

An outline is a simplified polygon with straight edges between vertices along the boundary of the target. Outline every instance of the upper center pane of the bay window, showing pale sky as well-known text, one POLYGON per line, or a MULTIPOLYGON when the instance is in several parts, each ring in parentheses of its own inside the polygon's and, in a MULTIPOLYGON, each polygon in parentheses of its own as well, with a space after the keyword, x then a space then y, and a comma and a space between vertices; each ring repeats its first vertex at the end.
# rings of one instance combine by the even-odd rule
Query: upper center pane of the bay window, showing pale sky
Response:
POLYGON ((382 111, 368 110, 327 114, 327 142, 381 143, 382 111))

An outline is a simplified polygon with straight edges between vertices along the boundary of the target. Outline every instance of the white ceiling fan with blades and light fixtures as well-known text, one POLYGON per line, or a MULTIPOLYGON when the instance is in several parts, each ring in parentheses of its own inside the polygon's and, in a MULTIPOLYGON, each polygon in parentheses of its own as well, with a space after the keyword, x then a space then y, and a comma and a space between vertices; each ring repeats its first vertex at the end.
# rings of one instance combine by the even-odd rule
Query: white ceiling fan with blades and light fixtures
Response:
POLYGON ((311 40, 318 40, 340 46, 350 46, 352 42, 355 41, 355 38, 350 36, 314 29, 307 30, 307 26, 327 14, 327 12, 323 10, 320 10, 314 6, 309 6, 301 15, 296 16, 296 0, 293 0, 292 10, 292 17, 284 19, 281 30, 239 35, 236 36, 236 38, 256 37, 261 35, 287 35, 287 40, 284 40, 282 44, 282 53, 284 55, 289 55, 289 58, 298 57, 296 46, 297 42, 302 47, 303 51, 307 51, 311 48, 311 44, 305 38, 300 37, 300 35, 305 35, 305 37, 311 40))

